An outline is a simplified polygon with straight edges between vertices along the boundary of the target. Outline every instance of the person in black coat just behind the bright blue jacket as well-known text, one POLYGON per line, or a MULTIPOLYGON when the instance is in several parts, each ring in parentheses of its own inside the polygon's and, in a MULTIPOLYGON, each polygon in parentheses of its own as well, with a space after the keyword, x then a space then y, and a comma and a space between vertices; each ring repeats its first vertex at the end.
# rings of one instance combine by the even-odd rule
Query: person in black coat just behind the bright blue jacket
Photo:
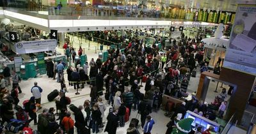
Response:
POLYGON ((140 121, 141 126, 144 126, 147 115, 150 114, 151 107, 150 103, 147 101, 147 98, 144 98, 142 101, 140 101, 139 107, 138 107, 138 114, 140 114, 140 121))

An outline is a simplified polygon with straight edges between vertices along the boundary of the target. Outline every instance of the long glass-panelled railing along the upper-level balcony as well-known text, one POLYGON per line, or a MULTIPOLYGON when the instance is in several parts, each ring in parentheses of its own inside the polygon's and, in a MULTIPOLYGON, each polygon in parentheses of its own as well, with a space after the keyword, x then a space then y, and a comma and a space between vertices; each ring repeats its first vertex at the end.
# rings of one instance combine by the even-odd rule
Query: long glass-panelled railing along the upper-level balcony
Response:
MULTIPOLYGON (((93 17, 134 17, 134 18, 152 18, 152 19, 182 19, 186 18, 187 12, 184 15, 176 15, 171 10, 148 10, 148 9, 113 9, 112 6, 108 8, 95 8, 92 6, 47 6, 33 2, 14 1, 6 7, 19 8, 25 11, 47 11, 48 15, 72 15, 72 16, 93 16, 93 17)), ((189 13, 189 12, 188 12, 189 13)), ((179 13, 178 13, 179 14, 179 13)), ((191 13, 189 13, 191 15, 191 13)), ((190 19, 191 20, 191 19, 190 19)), ((191 20, 192 21, 192 20, 191 20)))

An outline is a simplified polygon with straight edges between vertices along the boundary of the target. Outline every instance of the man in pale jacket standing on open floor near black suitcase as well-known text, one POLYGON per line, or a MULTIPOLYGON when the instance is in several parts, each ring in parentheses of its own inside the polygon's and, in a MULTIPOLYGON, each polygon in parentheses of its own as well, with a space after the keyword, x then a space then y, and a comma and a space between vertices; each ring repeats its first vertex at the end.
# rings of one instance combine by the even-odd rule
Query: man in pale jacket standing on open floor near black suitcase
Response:
POLYGON ((41 109, 41 93, 43 89, 39 86, 37 86, 37 82, 34 82, 34 86, 31 88, 31 93, 35 97, 36 105, 38 106, 38 109, 41 109))

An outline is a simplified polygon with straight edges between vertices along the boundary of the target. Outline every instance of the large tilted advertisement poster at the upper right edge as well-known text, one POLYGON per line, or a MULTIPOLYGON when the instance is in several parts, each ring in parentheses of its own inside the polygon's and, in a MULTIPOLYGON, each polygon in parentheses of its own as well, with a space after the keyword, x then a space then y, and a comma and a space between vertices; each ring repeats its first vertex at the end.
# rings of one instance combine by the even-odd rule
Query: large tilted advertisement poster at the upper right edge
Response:
POLYGON ((223 67, 256 75, 256 5, 238 5, 223 67))

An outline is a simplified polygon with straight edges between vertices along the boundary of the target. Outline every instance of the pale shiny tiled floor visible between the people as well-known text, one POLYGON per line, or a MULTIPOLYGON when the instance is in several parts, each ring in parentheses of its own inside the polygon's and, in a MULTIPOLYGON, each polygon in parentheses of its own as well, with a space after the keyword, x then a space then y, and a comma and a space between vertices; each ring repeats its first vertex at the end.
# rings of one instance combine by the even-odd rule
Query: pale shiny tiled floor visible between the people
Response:
MULTIPOLYGON (((77 45, 77 43, 74 43, 74 45, 77 45)), ((91 46, 93 48, 93 45, 97 45, 96 43, 91 43, 91 46)), ((83 47, 83 46, 82 46, 83 47)), ((84 48, 84 47, 83 47, 84 48)), ((104 50, 106 50, 106 47, 104 47, 104 50)), ((63 52, 62 48, 58 48, 59 52, 63 52)), ((97 50, 97 52, 99 52, 100 50, 97 50)), ((95 54, 95 50, 86 50, 85 52, 87 54, 88 57, 88 61, 90 61, 90 59, 93 58, 97 58, 97 54, 95 54)), ((66 80, 67 80, 67 75, 65 75, 66 80)), ((196 74, 196 77, 193 78, 191 77, 191 80, 189 81, 189 86, 188 86, 188 92, 192 93, 194 91, 197 90, 198 87, 198 82, 199 82, 199 77, 200 77, 200 73, 196 74)), ((56 80, 52 80, 52 78, 47 78, 46 75, 38 75, 37 78, 30 78, 29 80, 22 80, 22 82, 20 82, 20 87, 22 89, 22 94, 19 94, 19 98, 20 98, 20 103, 19 105, 22 105, 22 102, 24 100, 27 100, 31 97, 31 87, 33 86, 34 82, 38 82, 38 86, 42 87, 43 89, 43 93, 42 93, 42 107, 44 108, 50 108, 50 107, 55 107, 55 103, 54 101, 49 102, 47 100, 47 94, 49 94, 51 91, 53 91, 54 89, 60 89, 60 84, 56 82, 56 80)), ((145 87, 145 83, 143 83, 144 87, 145 87)), ((221 85, 221 84, 220 84, 221 85)), ((219 86, 220 86, 219 85, 219 86)), ((67 84, 68 86, 68 84, 67 84)), ((216 82, 211 82, 210 86, 209 86, 209 90, 207 93, 207 102, 211 103, 214 100, 214 97, 217 96, 220 91, 221 88, 218 86, 218 93, 214 93, 214 90, 216 88, 216 82)), ((144 92, 144 88, 141 88, 141 92, 144 92)), ((88 85, 86 85, 84 87, 84 89, 79 89, 79 95, 76 95, 76 90, 73 89, 73 87, 68 86, 68 93, 67 96, 69 96, 72 100, 72 104, 79 106, 79 105, 83 105, 84 100, 90 100, 90 87, 88 85)), ((42 110, 38 111, 38 114, 42 112, 42 110)), ((124 128, 118 128, 117 129, 117 133, 118 134, 123 134, 126 133, 126 129, 129 126, 129 122, 131 121, 131 118, 135 117, 137 114, 137 111, 132 111, 131 112, 131 117, 130 120, 128 121, 128 123, 125 123, 125 127, 124 128)), ((108 109, 105 112, 105 115, 108 115, 108 109)), ((152 134, 163 134, 166 131, 166 124, 168 123, 168 121, 170 120, 168 117, 164 116, 164 111, 163 110, 159 110, 159 112, 153 112, 152 115, 154 121, 155 121, 155 125, 153 127, 152 130, 152 134)), ((106 117, 105 116, 105 117, 106 117)), ((72 116, 74 118, 74 116, 72 116)), ((104 119, 106 120, 106 119, 104 119)), ((140 119, 139 119, 140 120, 140 119)), ((33 129, 36 128, 36 126, 31 126, 33 129)), ((139 131, 142 133, 141 128, 139 129, 139 131)), ((104 133, 104 132, 101 132, 104 133)))

